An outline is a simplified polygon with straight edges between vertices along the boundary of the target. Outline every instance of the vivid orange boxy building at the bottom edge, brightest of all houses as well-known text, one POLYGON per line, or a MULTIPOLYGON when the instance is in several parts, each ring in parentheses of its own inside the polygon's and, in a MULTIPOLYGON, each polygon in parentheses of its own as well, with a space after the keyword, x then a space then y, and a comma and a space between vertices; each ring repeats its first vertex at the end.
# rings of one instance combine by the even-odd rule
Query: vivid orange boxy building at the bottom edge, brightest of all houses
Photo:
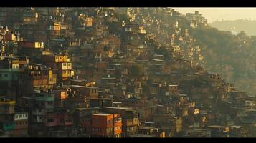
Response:
POLYGON ((120 114, 98 113, 92 116, 93 137, 121 137, 122 119, 120 114))

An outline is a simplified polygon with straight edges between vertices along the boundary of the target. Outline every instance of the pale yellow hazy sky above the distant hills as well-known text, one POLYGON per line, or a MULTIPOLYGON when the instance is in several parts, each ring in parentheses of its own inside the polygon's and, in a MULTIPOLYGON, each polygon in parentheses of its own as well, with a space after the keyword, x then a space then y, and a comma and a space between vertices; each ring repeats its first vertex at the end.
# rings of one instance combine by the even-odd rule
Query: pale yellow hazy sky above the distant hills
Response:
POLYGON ((223 20, 236 20, 236 19, 252 19, 256 20, 256 7, 255 8, 175 8, 176 11, 182 14, 194 13, 199 11, 206 17, 208 22, 223 20))

